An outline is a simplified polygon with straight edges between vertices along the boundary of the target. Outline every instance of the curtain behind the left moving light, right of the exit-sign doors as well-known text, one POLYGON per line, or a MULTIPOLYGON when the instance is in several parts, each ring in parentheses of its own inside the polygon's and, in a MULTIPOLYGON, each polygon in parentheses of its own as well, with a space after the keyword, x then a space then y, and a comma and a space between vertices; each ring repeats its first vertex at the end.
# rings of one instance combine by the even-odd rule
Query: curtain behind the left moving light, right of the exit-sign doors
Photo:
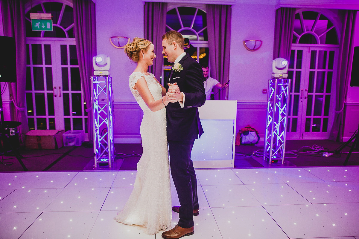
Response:
POLYGON ((88 112, 88 137, 93 140, 93 115, 91 103, 91 81, 93 75, 92 58, 96 56, 96 16, 95 4, 88 0, 73 0, 74 33, 76 52, 79 61, 81 87, 83 89, 85 110, 88 112))

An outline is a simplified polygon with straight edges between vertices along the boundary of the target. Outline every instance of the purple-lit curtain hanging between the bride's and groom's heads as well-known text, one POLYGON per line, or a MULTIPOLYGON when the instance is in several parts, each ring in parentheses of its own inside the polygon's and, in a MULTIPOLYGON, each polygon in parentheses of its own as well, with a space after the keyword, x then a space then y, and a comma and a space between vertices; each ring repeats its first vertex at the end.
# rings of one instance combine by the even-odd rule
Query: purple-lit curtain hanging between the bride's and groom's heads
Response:
POLYGON ((157 58, 148 71, 160 81, 163 68, 162 35, 166 29, 167 3, 149 3, 144 6, 144 37, 155 46, 157 58))

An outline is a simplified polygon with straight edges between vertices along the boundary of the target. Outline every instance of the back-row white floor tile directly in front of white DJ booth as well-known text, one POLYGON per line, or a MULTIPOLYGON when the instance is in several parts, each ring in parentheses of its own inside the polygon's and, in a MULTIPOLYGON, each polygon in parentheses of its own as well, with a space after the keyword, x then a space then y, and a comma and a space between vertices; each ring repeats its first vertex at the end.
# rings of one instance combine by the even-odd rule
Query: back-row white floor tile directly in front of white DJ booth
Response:
POLYGON ((197 170, 196 176, 204 185, 243 185, 232 169, 197 170))

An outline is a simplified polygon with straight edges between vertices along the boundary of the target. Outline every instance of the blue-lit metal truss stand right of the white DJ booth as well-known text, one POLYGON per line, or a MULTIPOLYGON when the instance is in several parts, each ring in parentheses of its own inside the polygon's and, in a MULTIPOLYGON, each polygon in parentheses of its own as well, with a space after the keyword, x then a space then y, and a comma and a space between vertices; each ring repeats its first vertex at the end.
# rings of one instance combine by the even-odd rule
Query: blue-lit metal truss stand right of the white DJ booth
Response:
POLYGON ((273 78, 268 83, 264 160, 284 163, 290 79, 273 78))

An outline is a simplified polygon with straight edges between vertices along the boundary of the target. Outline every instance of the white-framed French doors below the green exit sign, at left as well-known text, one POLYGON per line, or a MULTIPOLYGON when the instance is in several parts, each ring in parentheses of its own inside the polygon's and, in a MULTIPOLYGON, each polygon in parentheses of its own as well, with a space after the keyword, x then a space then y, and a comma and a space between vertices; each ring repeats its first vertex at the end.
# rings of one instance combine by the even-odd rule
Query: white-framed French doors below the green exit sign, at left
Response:
POLYGON ((85 130, 87 112, 70 38, 27 38, 26 106, 30 129, 85 130))

